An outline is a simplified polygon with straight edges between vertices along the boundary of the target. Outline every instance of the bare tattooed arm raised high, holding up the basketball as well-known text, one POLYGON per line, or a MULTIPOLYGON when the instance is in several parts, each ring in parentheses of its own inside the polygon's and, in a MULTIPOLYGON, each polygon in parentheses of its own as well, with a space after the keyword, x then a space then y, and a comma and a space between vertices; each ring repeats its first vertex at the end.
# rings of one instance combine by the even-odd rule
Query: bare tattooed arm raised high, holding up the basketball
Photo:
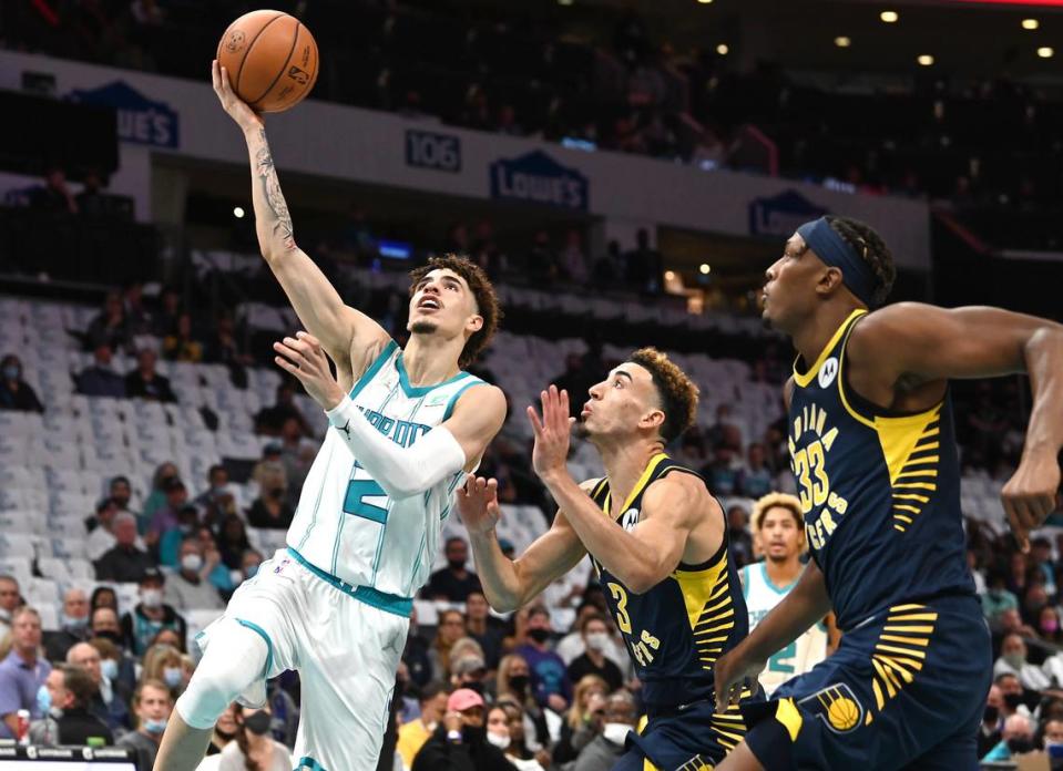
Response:
MULTIPOLYGON (((306 253, 295 243, 288 205, 280 192, 262 117, 233 91, 225 70, 214 62, 214 91, 225 112, 244 132, 251 155, 255 230, 262 256, 273 270, 303 325, 321 341, 346 381, 369 364, 388 333, 380 325, 345 305, 306 253)), ((348 388, 350 383, 344 383, 348 388)))

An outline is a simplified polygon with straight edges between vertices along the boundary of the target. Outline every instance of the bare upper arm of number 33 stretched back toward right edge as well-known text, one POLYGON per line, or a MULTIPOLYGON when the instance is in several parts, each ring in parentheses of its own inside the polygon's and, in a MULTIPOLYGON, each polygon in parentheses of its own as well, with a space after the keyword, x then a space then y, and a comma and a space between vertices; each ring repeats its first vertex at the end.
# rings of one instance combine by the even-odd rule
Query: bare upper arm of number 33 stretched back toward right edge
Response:
POLYGON ((1035 335, 1063 326, 989 307, 939 308, 897 302, 870 313, 852 330, 847 357, 880 382, 912 384, 950 378, 991 378, 1026 371, 1035 335))

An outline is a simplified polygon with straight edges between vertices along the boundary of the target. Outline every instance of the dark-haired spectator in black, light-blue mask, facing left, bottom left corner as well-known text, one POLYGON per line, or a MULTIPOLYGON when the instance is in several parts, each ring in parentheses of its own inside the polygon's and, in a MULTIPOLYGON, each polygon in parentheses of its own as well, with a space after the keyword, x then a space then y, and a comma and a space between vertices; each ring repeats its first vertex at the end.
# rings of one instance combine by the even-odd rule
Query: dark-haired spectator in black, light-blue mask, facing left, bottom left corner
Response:
POLYGON ((114 743, 111 729, 89 711, 96 692, 91 676, 81 667, 67 665, 48 674, 37 692, 38 709, 44 716, 30 724, 30 741, 44 747, 59 744, 114 743))

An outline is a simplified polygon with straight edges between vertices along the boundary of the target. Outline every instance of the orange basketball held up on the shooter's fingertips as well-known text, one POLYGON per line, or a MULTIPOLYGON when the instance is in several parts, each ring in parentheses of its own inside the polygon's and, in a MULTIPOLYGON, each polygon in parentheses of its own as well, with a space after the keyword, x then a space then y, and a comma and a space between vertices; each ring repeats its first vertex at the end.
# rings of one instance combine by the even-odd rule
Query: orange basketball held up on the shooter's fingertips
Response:
POLYGON ((290 110, 317 80, 314 35, 282 11, 252 11, 229 24, 217 60, 233 91, 256 112, 290 110))

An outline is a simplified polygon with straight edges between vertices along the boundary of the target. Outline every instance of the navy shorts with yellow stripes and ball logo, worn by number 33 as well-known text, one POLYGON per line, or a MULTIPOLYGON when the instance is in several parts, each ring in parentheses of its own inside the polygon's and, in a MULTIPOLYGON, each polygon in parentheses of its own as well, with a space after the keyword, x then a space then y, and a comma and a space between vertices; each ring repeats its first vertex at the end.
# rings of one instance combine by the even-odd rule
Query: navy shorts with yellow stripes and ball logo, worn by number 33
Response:
POLYGON ((768 771, 974 771, 992 668, 974 597, 902 603, 845 633, 770 700, 743 707, 746 743, 768 771))

